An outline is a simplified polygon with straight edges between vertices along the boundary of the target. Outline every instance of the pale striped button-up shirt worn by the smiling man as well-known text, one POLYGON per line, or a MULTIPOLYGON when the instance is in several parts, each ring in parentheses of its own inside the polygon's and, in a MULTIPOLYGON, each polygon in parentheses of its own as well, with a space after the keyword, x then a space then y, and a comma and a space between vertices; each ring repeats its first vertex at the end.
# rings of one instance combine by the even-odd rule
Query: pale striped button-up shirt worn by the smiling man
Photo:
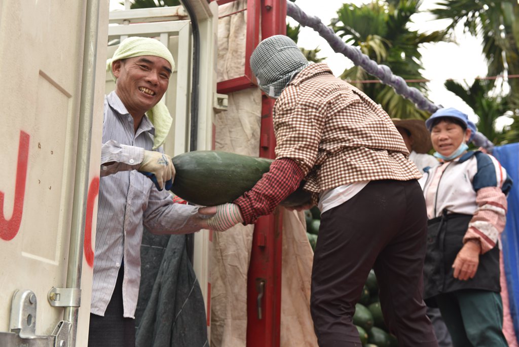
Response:
MULTIPOLYGON (((141 280, 143 227, 154 234, 187 234, 200 229, 198 208, 173 204, 167 191, 136 169, 153 146, 154 128, 145 116, 136 133, 133 118, 111 92, 104 101, 103 146, 90 312, 104 316, 124 258, 124 316, 134 318, 141 280)), ((162 148, 160 148, 162 151, 162 148)))

